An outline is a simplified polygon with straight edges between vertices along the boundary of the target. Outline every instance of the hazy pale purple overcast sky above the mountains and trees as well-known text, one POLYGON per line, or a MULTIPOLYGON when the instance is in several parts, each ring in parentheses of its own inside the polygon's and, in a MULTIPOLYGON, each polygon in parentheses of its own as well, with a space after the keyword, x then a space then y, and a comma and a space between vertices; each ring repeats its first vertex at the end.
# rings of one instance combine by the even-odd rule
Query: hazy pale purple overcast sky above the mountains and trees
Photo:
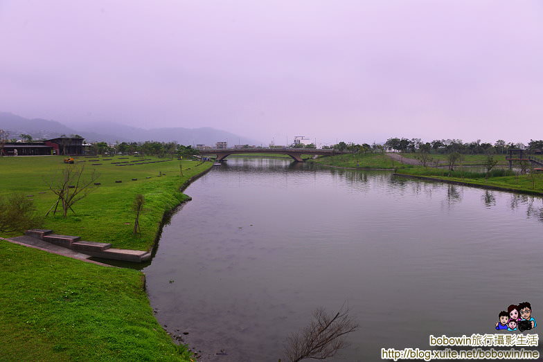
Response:
POLYGON ((543 1, 4 1, 0 111, 284 144, 543 138, 543 1))

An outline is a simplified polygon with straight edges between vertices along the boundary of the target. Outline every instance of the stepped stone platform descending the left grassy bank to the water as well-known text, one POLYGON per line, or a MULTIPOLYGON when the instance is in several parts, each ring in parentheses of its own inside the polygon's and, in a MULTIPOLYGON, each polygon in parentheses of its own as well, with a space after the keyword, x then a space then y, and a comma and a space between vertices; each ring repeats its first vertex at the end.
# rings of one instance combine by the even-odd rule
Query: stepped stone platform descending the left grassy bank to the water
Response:
POLYGON ((87 257, 102 257, 125 262, 145 262, 151 258, 151 253, 147 251, 112 248, 112 244, 109 243, 87 242, 78 236, 53 234, 53 230, 33 229, 26 230, 24 234, 27 242, 28 238, 37 239, 42 243, 54 244, 74 253, 87 255, 87 257))

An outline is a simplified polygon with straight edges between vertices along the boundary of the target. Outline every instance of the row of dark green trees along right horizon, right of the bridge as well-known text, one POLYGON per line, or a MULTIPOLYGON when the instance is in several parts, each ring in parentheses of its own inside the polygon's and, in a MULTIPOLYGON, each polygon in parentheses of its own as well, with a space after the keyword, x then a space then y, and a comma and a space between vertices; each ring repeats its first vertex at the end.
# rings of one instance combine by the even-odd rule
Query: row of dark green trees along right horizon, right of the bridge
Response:
POLYGON ((504 140, 498 140, 492 145, 492 143, 481 142, 481 140, 466 143, 459 139, 424 142, 420 138, 408 139, 395 137, 386 140, 384 146, 389 150, 413 153, 426 151, 440 154, 449 154, 452 152, 459 152, 461 154, 504 154, 511 148, 528 150, 528 152, 542 150, 543 141, 530 140, 526 146, 524 143, 506 143, 504 140))

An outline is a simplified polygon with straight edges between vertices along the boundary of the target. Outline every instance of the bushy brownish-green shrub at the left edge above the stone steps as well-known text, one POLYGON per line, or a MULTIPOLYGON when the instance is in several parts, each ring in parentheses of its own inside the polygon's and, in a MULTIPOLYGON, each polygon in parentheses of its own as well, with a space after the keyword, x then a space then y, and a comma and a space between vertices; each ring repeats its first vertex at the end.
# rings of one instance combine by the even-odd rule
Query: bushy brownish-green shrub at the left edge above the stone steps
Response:
POLYGON ((0 233, 38 228, 42 221, 36 214, 34 201, 23 194, 0 196, 0 233))

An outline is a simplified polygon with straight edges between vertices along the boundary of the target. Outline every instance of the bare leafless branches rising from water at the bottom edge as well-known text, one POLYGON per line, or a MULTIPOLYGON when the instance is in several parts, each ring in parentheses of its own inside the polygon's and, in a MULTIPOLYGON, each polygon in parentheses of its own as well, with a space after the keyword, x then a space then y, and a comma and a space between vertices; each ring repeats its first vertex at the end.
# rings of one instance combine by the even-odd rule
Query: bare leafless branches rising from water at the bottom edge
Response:
POLYGON ((357 329, 358 323, 349 316, 348 307, 341 306, 335 315, 317 308, 310 325, 287 338, 285 356, 290 362, 328 359, 346 346, 344 336, 357 329))

